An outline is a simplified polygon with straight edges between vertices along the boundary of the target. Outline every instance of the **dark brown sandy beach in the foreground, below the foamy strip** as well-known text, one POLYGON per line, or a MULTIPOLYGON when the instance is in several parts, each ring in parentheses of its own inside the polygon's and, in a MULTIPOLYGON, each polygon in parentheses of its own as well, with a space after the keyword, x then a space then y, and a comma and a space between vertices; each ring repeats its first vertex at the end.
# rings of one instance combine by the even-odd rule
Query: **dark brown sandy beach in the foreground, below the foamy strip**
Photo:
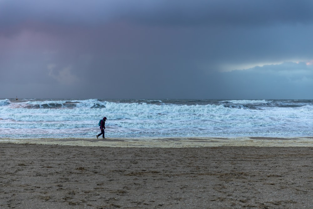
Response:
POLYGON ((312 147, 0 143, 0 208, 311 208, 312 147))

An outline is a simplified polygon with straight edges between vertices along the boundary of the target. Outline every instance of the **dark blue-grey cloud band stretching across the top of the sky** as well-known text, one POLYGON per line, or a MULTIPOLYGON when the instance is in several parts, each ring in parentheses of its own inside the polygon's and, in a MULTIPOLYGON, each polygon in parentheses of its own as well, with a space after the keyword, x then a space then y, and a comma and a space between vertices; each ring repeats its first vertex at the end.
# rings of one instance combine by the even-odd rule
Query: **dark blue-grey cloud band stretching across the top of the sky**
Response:
POLYGON ((95 25, 112 20, 148 25, 259 26, 271 24, 310 24, 310 0, 221 0, 221 1, 1 1, 0 25, 14 26, 33 20, 68 26, 95 25))

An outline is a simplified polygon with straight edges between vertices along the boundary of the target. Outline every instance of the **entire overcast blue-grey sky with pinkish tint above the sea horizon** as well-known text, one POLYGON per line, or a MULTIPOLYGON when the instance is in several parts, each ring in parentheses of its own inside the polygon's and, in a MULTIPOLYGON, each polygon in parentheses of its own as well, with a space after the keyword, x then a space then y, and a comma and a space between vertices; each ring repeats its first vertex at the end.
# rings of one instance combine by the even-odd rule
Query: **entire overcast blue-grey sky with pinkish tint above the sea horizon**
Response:
POLYGON ((313 1, 0 0, 0 89, 313 99, 313 1))

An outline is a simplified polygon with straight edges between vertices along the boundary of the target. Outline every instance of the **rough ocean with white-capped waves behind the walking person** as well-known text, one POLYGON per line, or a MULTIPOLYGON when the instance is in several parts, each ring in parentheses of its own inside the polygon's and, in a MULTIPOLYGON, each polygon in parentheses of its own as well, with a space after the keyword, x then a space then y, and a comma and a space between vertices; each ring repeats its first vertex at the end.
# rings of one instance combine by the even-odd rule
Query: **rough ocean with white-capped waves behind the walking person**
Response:
POLYGON ((0 99, 0 140, 312 137, 313 100, 0 99))

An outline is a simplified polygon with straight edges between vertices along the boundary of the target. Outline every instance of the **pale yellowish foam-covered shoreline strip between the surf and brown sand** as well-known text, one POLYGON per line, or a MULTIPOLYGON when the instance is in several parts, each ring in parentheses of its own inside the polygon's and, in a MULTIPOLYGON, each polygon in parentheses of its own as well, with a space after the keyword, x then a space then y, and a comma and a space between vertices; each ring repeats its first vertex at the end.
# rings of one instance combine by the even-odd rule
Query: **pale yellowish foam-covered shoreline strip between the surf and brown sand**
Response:
POLYGON ((0 138, 1 143, 120 148, 313 147, 313 137, 0 138))

